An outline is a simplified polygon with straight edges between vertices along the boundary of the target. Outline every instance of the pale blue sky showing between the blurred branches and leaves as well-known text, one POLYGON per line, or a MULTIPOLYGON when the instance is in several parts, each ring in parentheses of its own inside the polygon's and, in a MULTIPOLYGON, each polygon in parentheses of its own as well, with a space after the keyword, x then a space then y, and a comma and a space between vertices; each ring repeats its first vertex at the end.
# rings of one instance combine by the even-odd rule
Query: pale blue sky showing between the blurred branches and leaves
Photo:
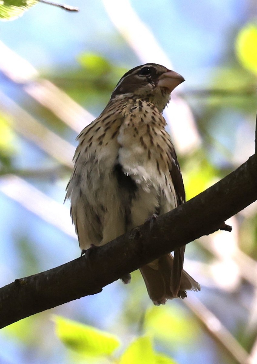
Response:
MULTIPOLYGON (((131 3, 170 58, 174 70, 185 76, 188 88, 208 84, 212 67, 221 65, 233 52, 234 35, 249 17, 248 3, 241 0, 133 0, 131 3)), ((128 69, 140 63, 113 26, 100 0, 71 0, 69 4, 79 7, 80 12, 69 13, 45 4, 37 4, 19 19, 0 23, 0 40, 28 60, 43 75, 55 75, 60 70, 78 68, 77 56, 85 51, 103 54, 117 66, 128 69)), ((141 41, 144 42, 144 39, 141 41)), ((26 98, 22 85, 14 84, 1 70, 0 91, 23 106, 26 98)), ((48 163, 45 153, 31 142, 20 137, 16 141, 17 166, 40 166, 48 163)), ((69 142, 75 145, 74 138, 69 142)), ((53 179, 48 183, 33 183, 56 201, 63 201, 67 181, 53 179)), ((79 255, 75 239, 41 221, 2 193, 0 206, 2 285, 22 274, 50 269, 79 255), (25 250, 21 242, 17 243, 22 238, 27 240, 25 250), (32 260, 36 259, 36 265, 33 263, 31 267, 22 266, 20 254, 26 253, 26 249, 31 249, 32 260)), ((71 302, 60 311, 57 309, 57 312, 108 329, 113 320, 119 319, 119 310, 127 297, 124 289, 120 282, 115 282, 106 287, 103 293, 71 302), (116 297, 115 300, 113 297, 116 297), (108 312, 105 309, 107 302, 112 302, 108 312)), ((117 327, 114 330, 116 329, 117 327)), ((24 351, 21 344, 15 340, 8 341, 4 335, 0 335, 0 347, 7 348, 7 345, 5 358, 0 356, 1 363, 44 363, 45 357, 42 353, 34 353, 29 361, 26 355, 21 354, 24 351)), ((48 357, 49 363, 64 362, 56 361, 61 350, 56 345, 57 349, 52 348, 53 356, 48 357)), ((206 352, 191 354, 192 363, 198 363, 199 357, 207 360, 206 356, 212 356, 206 352)), ((188 362, 184 353, 177 355, 180 363, 188 362)), ((207 361, 215 363, 213 358, 207 361)))

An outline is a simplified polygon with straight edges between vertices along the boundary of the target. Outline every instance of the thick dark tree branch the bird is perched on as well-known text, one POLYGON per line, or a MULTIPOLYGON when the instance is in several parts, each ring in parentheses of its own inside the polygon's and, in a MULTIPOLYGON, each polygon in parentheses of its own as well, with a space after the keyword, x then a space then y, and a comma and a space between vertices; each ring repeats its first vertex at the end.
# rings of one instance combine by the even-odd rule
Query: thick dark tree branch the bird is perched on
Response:
POLYGON ((213 233, 257 199, 257 158, 190 201, 112 242, 57 268, 15 280, 0 289, 0 328, 77 298, 101 292, 121 276, 213 233))

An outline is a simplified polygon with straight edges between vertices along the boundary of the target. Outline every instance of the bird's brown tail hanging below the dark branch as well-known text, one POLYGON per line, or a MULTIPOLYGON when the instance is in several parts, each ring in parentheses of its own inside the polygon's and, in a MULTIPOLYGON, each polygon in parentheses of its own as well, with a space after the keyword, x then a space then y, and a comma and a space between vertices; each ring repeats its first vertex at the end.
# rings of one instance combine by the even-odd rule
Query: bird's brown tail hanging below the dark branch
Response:
POLYGON ((154 305, 164 305, 167 300, 175 297, 185 298, 186 290, 199 291, 200 284, 197 283, 185 270, 182 270, 180 287, 174 294, 172 288, 173 257, 166 254, 150 264, 142 266, 140 272, 144 278, 149 297, 154 305))

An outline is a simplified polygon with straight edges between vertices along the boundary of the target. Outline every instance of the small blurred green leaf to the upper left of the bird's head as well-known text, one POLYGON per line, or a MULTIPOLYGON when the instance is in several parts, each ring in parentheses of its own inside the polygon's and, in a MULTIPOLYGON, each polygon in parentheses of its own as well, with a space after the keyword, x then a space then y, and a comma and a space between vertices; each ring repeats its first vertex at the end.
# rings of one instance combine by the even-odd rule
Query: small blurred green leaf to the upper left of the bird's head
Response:
POLYGON ((95 53, 82 53, 77 59, 92 76, 106 75, 112 70, 111 63, 103 56, 95 53))

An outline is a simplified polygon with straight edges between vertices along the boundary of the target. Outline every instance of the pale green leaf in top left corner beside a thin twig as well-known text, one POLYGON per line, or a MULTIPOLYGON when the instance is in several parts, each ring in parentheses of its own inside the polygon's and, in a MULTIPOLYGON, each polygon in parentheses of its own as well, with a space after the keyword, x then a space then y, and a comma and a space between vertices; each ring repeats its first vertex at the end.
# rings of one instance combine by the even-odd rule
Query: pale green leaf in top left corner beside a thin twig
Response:
POLYGON ((0 0, 0 20, 14 20, 38 0, 0 0))

